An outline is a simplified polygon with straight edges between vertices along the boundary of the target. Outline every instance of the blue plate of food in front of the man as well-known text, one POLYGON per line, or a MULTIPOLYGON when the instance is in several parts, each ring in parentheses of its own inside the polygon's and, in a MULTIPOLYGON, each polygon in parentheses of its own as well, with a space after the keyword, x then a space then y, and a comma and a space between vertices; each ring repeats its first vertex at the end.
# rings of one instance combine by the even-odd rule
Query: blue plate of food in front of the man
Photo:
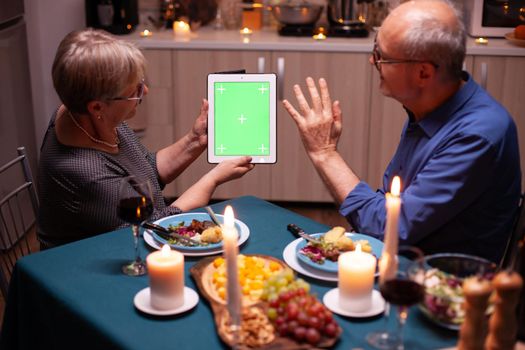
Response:
POLYGON ((316 270, 337 273, 337 259, 341 253, 353 251, 358 244, 363 252, 381 256, 383 242, 361 233, 345 232, 343 227, 334 227, 326 233, 310 235, 318 242, 302 240, 297 244, 297 259, 316 270))

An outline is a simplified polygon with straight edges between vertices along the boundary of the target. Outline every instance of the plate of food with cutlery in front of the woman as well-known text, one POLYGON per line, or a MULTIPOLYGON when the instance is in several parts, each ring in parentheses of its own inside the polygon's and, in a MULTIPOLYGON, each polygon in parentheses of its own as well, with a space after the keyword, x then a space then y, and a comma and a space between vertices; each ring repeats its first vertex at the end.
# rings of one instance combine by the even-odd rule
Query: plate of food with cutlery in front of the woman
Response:
MULTIPOLYGON (((217 215, 219 222, 224 221, 223 215, 217 215)), ((206 213, 185 213, 167 216, 154 222, 178 235, 191 238, 199 243, 197 246, 185 245, 184 242, 173 238, 166 239, 154 231, 144 231, 144 240, 155 249, 160 249, 162 245, 168 244, 171 248, 179 250, 186 255, 209 255, 222 252, 222 231, 219 226, 210 221, 206 213), (202 253, 202 254, 200 254, 202 253)), ((250 235, 248 226, 235 219, 235 228, 239 233, 239 245, 243 244, 250 235)))

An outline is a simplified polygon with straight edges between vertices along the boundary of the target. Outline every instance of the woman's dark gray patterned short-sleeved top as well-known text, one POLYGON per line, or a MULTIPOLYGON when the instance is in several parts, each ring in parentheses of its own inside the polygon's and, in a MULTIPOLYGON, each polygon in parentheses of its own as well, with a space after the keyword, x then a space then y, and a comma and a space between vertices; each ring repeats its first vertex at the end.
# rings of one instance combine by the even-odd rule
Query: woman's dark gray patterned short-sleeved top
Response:
POLYGON ((120 181, 129 175, 152 183, 155 210, 151 220, 178 214, 162 196, 156 155, 122 123, 119 153, 61 144, 55 133, 56 112, 42 143, 38 167, 38 236, 44 246, 56 246, 127 226, 117 216, 120 181))

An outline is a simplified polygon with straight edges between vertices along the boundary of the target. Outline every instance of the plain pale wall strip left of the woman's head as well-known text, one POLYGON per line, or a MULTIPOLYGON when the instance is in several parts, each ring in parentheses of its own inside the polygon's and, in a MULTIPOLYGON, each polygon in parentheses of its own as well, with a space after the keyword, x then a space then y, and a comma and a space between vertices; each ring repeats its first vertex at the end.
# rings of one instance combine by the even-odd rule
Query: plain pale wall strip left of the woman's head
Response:
POLYGON ((85 27, 84 0, 24 0, 24 7, 35 137, 40 152, 49 119, 60 104, 51 80, 56 48, 67 33, 85 27))

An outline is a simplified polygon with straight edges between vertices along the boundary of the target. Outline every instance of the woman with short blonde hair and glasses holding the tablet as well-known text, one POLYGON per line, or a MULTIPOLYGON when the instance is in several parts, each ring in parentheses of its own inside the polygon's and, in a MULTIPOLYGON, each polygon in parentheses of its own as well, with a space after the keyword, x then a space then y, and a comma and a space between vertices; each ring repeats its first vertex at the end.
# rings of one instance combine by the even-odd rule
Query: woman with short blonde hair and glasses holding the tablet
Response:
POLYGON ((63 105, 51 118, 40 156, 38 238, 44 247, 125 226, 117 205, 121 180, 129 175, 152 183, 155 219, 206 205, 218 185, 253 168, 250 157, 223 162, 168 206, 163 186, 206 148, 207 101, 192 130, 150 153, 126 125, 148 94, 136 47, 102 31, 72 32, 58 47, 52 74, 63 105))

